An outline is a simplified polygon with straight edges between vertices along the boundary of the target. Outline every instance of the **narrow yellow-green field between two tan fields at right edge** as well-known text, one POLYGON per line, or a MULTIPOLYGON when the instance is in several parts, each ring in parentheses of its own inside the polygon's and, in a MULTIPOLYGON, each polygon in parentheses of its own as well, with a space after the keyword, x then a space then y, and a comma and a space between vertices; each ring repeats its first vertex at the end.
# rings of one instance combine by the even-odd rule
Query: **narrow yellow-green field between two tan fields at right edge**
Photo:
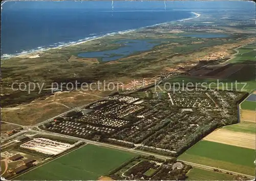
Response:
POLYGON ((223 129, 233 131, 233 132, 255 134, 256 124, 254 122, 244 121, 237 124, 224 126, 223 129))

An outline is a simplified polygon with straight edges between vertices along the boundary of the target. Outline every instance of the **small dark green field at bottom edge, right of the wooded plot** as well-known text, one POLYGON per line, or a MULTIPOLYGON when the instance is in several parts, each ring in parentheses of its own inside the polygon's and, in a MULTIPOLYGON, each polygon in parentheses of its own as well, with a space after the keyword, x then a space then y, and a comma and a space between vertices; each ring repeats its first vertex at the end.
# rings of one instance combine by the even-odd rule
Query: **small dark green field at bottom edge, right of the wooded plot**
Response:
POLYGON ((235 180, 232 175, 199 168, 190 169, 186 175, 186 180, 235 180))

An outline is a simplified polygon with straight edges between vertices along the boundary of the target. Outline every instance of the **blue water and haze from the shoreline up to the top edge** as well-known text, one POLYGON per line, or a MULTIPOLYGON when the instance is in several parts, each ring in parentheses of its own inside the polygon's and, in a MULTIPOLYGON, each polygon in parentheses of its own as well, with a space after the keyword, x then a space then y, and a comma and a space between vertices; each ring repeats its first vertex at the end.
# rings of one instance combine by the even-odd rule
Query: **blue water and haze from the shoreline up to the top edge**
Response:
POLYGON ((210 10, 210 7, 219 11, 245 6, 241 2, 233 2, 232 6, 228 2, 221 4, 183 1, 2 2, 1 58, 189 19, 196 16, 191 13, 194 10, 210 10))

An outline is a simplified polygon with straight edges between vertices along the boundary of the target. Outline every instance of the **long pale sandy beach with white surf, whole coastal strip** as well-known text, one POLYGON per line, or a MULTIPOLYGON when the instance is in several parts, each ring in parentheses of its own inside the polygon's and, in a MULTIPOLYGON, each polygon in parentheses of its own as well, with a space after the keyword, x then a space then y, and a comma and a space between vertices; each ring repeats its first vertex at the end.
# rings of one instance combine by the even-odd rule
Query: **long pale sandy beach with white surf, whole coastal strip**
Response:
MULTIPOLYGON (((183 21, 186 21, 186 20, 189 20, 189 19, 197 18, 197 17, 199 17, 201 15, 201 14, 198 14, 198 13, 195 13, 195 12, 191 12, 191 14, 194 14, 196 16, 190 17, 190 18, 181 19, 181 20, 174 20, 174 21, 183 22, 183 21)), ((166 24, 166 23, 174 22, 174 21, 157 23, 157 24, 153 24, 153 25, 148 25, 146 27, 140 27, 138 29, 124 30, 124 31, 119 31, 119 32, 107 33, 105 35, 87 37, 87 38, 84 38, 84 39, 80 39, 78 41, 72 41, 72 42, 68 42, 68 43, 63 43, 63 44, 57 45, 55 47, 46 47, 46 48, 37 47, 38 49, 34 48, 34 49, 31 49, 31 50, 25 50, 25 51, 22 51, 21 53, 18 53, 18 54, 12 54, 12 55, 3 54, 1 56, 1 60, 8 60, 10 58, 30 58, 30 59, 39 58, 40 57, 39 56, 40 53, 42 53, 44 51, 47 51, 47 50, 50 50, 50 49, 58 49, 58 48, 67 47, 67 46, 74 46, 74 45, 86 43, 86 42, 89 42, 89 41, 92 41, 92 40, 100 39, 100 38, 103 38, 103 37, 106 37, 106 36, 114 36, 116 34, 130 33, 130 32, 134 32, 134 31, 137 31, 137 30, 140 30, 140 29, 143 29, 143 28, 156 27, 157 25, 166 24)), ((62 43, 62 42, 58 42, 58 43, 62 43)), ((54 43, 54 44, 57 44, 57 43, 54 43)), ((54 46, 54 45, 50 45, 50 46, 54 46)))

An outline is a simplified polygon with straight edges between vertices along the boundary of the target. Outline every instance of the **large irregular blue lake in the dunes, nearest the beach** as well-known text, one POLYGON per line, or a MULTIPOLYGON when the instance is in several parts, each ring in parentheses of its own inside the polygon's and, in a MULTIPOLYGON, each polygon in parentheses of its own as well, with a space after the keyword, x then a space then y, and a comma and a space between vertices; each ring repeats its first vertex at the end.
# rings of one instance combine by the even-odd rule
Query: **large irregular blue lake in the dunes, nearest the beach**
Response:
POLYGON ((103 62, 114 61, 138 51, 146 51, 152 49, 154 46, 159 45, 156 40, 121 40, 117 41, 117 44, 121 44, 120 48, 104 51, 91 51, 78 54, 78 57, 82 58, 102 58, 103 62))

